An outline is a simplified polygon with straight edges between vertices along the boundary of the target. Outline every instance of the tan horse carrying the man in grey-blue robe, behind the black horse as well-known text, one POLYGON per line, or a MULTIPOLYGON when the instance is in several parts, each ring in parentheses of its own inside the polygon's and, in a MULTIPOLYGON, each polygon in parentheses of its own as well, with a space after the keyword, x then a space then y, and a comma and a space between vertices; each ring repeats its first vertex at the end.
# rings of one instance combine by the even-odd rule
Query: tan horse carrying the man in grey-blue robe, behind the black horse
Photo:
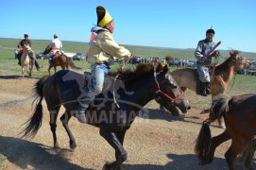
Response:
MULTIPOLYGON (((212 99, 215 95, 225 92, 234 71, 241 70, 245 67, 246 59, 243 59, 238 54, 239 51, 237 50, 230 51, 230 58, 225 60, 220 65, 216 66, 213 70, 210 87, 212 99)), ((175 78, 182 91, 186 91, 186 89, 189 89, 196 92, 196 69, 184 68, 175 70, 172 72, 172 76, 175 78)), ((209 112, 209 110, 203 111, 203 113, 206 112, 209 112)), ((224 127, 221 122, 222 121, 219 120, 220 126, 224 127)))

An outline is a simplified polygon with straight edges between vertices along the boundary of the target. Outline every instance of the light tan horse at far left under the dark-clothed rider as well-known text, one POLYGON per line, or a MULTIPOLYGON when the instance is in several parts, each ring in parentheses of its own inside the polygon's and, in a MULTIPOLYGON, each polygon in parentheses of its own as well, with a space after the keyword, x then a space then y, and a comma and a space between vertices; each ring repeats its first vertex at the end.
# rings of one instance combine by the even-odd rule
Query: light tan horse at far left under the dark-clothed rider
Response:
POLYGON ((31 77, 32 69, 33 69, 33 61, 29 56, 34 55, 33 50, 30 46, 24 45, 24 51, 21 56, 21 66, 22 66, 22 76, 24 77, 24 67, 26 66, 27 77, 31 77))

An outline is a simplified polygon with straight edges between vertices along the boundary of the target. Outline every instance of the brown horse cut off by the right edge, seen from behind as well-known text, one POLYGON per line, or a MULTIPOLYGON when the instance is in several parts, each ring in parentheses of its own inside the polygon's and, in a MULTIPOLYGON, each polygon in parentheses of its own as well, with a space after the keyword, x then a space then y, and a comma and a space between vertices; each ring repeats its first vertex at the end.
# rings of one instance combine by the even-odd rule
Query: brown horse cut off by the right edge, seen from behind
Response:
POLYGON ((256 135, 255 103, 255 93, 233 96, 222 93, 213 98, 209 119, 204 121, 196 140, 195 152, 201 164, 211 163, 216 147, 231 139, 230 148, 225 153, 229 168, 234 169, 234 160, 241 153, 246 158, 244 163, 247 167, 249 166, 256 148, 254 139, 254 135, 256 135), (227 129, 212 138, 209 125, 222 116, 227 129), (251 146, 252 149, 247 149, 251 146))

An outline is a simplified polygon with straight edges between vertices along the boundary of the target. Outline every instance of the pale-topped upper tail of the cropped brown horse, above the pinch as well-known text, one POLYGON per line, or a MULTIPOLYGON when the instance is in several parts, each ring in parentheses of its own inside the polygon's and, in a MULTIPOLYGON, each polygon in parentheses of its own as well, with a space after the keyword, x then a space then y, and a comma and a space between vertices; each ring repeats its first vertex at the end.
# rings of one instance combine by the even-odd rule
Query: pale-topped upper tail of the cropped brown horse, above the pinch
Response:
POLYGON ((224 93, 217 94, 213 97, 213 104, 209 115, 211 120, 216 120, 225 112, 228 112, 230 110, 230 99, 231 97, 224 93))

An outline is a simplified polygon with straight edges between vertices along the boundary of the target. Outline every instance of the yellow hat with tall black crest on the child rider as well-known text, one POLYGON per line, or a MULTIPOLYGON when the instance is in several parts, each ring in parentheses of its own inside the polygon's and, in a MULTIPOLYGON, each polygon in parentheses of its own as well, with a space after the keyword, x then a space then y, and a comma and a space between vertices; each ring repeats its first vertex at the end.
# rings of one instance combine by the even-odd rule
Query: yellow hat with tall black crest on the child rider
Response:
POLYGON ((107 24, 111 23, 112 17, 110 13, 103 7, 98 6, 96 8, 97 12, 97 26, 105 27, 107 24))

